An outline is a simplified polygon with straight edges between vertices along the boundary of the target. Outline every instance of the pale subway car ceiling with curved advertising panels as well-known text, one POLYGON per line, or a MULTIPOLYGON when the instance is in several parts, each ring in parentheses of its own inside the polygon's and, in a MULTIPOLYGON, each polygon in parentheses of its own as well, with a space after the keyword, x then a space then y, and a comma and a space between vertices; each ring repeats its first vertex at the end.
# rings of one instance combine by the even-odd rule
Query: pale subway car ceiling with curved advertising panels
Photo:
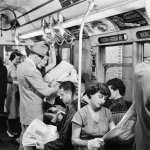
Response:
MULTIPOLYGON (((149 0, 93 0, 95 7, 87 17, 83 38, 90 38, 92 46, 149 40, 149 0), (146 5, 147 4, 147 5, 146 5)), ((14 44, 17 30, 22 44, 28 39, 42 41, 42 20, 48 25, 53 17, 53 28, 63 17, 61 25, 79 38, 79 29, 89 6, 89 0, 0 0, 0 16, 12 16, 15 24, 1 34, 2 43, 14 44), (5 10, 11 10, 5 11, 5 10), (6 13, 6 14, 5 14, 6 13)), ((1 19, 2 20, 2 19, 1 19)), ((1 24, 2 25, 2 24, 1 24)), ((49 33, 49 30, 45 30, 49 33)))

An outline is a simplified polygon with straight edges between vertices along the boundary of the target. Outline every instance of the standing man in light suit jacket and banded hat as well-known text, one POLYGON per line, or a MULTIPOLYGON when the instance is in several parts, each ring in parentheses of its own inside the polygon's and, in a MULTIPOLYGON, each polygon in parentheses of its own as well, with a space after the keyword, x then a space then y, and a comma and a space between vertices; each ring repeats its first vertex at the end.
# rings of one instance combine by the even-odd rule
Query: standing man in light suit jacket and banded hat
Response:
MULTIPOLYGON (((47 46, 35 44, 27 48, 28 57, 17 68, 18 86, 20 92, 20 122, 22 133, 34 119, 43 120, 42 101, 45 96, 57 92, 58 85, 53 88, 43 82, 37 65, 41 62, 48 51, 47 46)), ((21 146, 20 146, 21 147, 21 146)), ((29 150, 31 147, 24 147, 29 150)))

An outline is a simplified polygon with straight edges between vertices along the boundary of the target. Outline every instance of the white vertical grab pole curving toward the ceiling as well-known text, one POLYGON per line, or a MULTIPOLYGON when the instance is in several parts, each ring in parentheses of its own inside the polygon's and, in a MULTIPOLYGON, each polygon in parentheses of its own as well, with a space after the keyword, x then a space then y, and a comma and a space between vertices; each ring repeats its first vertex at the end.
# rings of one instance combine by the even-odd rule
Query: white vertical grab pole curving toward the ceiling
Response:
POLYGON ((82 20, 81 27, 80 27, 80 34, 79 34, 79 64, 78 64, 78 75, 79 75, 79 80, 78 80, 78 109, 81 108, 81 71, 82 71, 82 36, 83 36, 83 27, 84 23, 90 13, 90 11, 94 7, 94 0, 89 0, 89 7, 88 10, 82 20))

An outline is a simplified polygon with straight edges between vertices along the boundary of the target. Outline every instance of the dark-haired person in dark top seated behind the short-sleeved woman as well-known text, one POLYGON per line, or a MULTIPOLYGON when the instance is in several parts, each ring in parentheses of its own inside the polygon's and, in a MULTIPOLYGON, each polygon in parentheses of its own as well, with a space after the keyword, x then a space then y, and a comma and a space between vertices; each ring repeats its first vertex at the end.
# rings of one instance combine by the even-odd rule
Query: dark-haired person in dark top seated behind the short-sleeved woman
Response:
POLYGON ((118 78, 113 78, 108 80, 106 84, 111 92, 111 96, 109 97, 110 100, 105 103, 105 106, 112 113, 126 112, 128 107, 123 97, 126 90, 123 81, 118 78))

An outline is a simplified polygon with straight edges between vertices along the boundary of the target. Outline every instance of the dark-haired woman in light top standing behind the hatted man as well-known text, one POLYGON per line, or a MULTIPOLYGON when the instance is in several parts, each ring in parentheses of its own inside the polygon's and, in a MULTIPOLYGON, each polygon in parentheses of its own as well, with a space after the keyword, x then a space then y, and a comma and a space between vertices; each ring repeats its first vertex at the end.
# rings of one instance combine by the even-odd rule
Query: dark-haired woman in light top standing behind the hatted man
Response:
POLYGON ((10 62, 7 65, 8 71, 8 84, 7 84, 7 98, 6 98, 6 108, 8 109, 8 121, 7 121, 7 134, 9 137, 14 137, 13 132, 13 122, 14 119, 19 117, 19 98, 16 96, 18 93, 17 85, 17 66, 20 62, 20 53, 13 52, 10 55, 10 62))

